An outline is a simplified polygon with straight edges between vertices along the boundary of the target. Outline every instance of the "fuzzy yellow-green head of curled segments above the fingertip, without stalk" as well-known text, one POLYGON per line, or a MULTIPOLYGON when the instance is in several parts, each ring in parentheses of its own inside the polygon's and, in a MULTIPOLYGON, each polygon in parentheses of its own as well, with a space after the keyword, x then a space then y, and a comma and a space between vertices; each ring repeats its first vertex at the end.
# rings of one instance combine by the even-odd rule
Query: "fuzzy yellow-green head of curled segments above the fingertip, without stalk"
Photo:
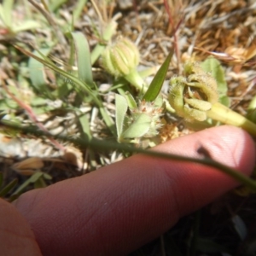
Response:
POLYGON ((187 78, 171 79, 169 102, 176 113, 187 121, 204 121, 212 104, 218 102, 217 82, 197 62, 185 64, 184 73, 187 78))

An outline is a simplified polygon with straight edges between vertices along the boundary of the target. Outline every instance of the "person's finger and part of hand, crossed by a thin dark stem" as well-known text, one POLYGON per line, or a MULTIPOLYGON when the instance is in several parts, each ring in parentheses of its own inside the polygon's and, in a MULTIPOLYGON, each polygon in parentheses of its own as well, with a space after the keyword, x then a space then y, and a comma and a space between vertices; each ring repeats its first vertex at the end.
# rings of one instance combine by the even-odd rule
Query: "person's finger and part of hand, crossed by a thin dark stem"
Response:
MULTIPOLYGON (((252 138, 219 126, 163 143, 156 150, 202 157, 250 175, 252 138)), ((96 172, 36 189, 15 204, 0 201, 3 255, 125 255, 177 220, 237 186, 212 167, 135 155, 96 172)))

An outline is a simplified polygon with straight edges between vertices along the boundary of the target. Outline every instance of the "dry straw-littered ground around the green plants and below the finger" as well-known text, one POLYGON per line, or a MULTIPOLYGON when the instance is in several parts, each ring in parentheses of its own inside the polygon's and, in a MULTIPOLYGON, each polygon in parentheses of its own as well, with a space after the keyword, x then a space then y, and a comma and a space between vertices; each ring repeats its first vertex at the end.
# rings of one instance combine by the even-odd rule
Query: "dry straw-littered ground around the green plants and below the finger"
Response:
MULTIPOLYGON (((113 140, 96 105, 78 103, 76 92, 68 86, 68 93, 61 90, 62 97, 59 98, 58 94, 53 98, 42 97, 33 88, 30 60, 15 49, 12 43, 18 42, 23 48, 32 51, 32 46, 42 48, 53 41, 57 42, 50 55, 52 59, 61 60, 57 61, 59 67, 63 67, 63 62, 68 62, 67 52, 71 45, 65 37, 62 42, 61 38, 56 40, 53 25, 48 25, 35 6, 32 7, 31 3, 22 5, 21 2, 17 1, 12 11, 14 26, 26 20, 27 16, 43 26, 14 33, 0 23, 0 75, 3 81, 0 90, 1 118, 17 121, 22 125, 39 123, 54 135, 61 133, 64 136, 81 137, 83 129, 81 131, 77 112, 74 111, 79 108, 90 122, 92 136, 113 140), (33 114, 37 116, 38 123, 33 119, 33 114)), ((256 95, 253 59, 256 55, 256 3, 253 0, 108 2, 99 0, 95 4, 86 3, 74 22, 74 30, 86 35, 91 49, 99 42, 97 32, 101 31, 102 24, 118 15, 115 37, 125 36, 137 44, 141 54, 139 68, 159 66, 174 48, 175 55, 166 76, 167 81, 172 75, 182 73, 184 61, 204 61, 208 55, 213 54, 224 67, 230 108, 243 115, 247 113, 247 106, 256 95)), ((53 8, 52 16, 55 17, 56 26, 70 24, 73 10, 78 9, 76 4, 67 1, 53 8)), ((114 118, 113 93, 106 93, 113 78, 102 71, 100 61, 96 61, 93 71, 95 82, 102 92, 104 106, 114 118)), ((151 75, 149 80, 152 78, 151 75)), ((44 85, 51 91, 55 90, 56 84, 67 82, 49 68, 44 69, 44 79, 44 85)), ((163 93, 165 95, 167 90, 163 93)), ((172 129, 169 127, 171 133, 161 137, 163 141, 193 132, 175 115, 167 116, 166 120, 173 125, 172 129)), ((38 128, 40 130, 39 126, 38 128)), ((22 131, 13 131, 5 126, 1 129, 0 166, 3 184, 15 178, 18 181, 15 188, 6 195, 7 200, 17 194, 15 189, 26 191, 46 186, 124 158, 117 150, 96 152, 67 141, 50 141, 22 131), (39 173, 37 177, 34 176, 35 172, 39 173), (32 176, 34 179, 29 180, 32 176), (28 180, 30 183, 27 183, 28 180)), ((160 239, 131 255, 255 255, 255 224, 255 196, 230 193, 200 212, 183 218, 160 239), (252 228, 246 230, 245 239, 241 238, 234 222, 252 228), (193 236, 195 231, 199 234, 196 236, 196 249, 193 236)))

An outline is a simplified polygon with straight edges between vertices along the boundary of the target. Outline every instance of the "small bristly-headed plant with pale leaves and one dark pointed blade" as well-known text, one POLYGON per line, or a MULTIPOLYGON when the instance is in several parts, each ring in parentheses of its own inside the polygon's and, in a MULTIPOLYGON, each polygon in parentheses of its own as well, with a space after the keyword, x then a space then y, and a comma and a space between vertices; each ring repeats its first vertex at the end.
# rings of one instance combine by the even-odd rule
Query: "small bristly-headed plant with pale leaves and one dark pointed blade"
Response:
MULTIPOLYGON (((155 74, 142 102, 137 104, 131 93, 126 93, 125 96, 118 94, 115 96, 115 121, 119 142, 127 142, 128 140, 137 143, 137 140, 142 137, 154 137, 158 134, 161 127, 160 117, 163 106, 163 101, 159 95, 162 84, 166 79, 172 54, 173 52, 166 57, 166 61, 155 74), (126 116, 128 106, 131 114, 126 116), (132 140, 134 138, 137 139, 132 140)), ((134 74, 133 71, 132 74, 134 74)), ((143 89, 141 88, 141 90, 143 89)))

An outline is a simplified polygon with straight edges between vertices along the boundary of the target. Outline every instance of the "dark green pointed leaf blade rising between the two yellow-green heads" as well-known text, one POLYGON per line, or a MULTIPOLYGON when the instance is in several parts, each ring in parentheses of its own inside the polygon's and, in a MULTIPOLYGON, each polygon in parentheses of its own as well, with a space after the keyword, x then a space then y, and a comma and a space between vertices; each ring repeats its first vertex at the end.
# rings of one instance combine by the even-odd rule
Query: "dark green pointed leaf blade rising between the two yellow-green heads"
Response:
POLYGON ((172 60, 173 50, 166 57, 166 61, 161 65, 158 72, 155 74, 154 79, 151 84, 148 86, 148 90, 146 91, 143 99, 146 102, 153 102, 156 97, 159 95, 162 85, 166 79, 166 73, 169 68, 170 61, 172 60))

